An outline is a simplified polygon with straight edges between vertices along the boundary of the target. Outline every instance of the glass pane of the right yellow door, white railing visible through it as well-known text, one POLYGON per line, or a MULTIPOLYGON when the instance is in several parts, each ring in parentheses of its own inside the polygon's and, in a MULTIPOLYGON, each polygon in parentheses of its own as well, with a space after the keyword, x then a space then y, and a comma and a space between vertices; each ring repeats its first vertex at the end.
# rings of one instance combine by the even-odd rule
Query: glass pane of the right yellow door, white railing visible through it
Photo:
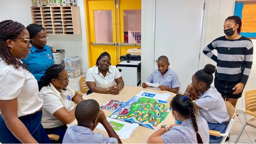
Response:
POLYGON ((124 10, 124 43, 141 43, 141 10, 124 10))

